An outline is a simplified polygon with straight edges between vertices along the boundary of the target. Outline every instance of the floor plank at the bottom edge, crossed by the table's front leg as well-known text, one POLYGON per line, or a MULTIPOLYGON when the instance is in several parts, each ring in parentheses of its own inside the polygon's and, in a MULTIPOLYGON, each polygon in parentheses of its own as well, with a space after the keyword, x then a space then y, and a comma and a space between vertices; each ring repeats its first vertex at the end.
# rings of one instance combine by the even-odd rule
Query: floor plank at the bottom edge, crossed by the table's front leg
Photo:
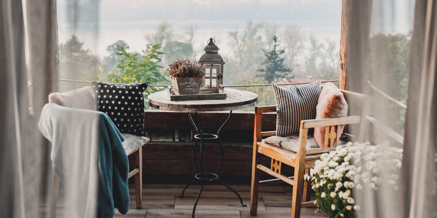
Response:
MULTIPOLYGON (((149 209, 146 218, 191 218, 193 209, 149 209)), ((196 218, 240 218, 239 210, 196 209, 196 218)))

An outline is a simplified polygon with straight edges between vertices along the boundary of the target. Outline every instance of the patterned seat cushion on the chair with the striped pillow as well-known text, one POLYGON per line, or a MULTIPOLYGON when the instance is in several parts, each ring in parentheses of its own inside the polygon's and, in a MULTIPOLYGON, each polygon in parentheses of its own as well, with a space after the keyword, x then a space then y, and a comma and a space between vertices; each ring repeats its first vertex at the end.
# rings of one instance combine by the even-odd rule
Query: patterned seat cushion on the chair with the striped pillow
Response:
MULTIPOLYGON (((298 152, 299 150, 299 134, 294 134, 287 137, 270 136, 264 140, 266 143, 276 145, 287 150, 298 152)), ((306 140, 306 150, 319 148, 319 144, 312 135, 308 135, 306 140)))

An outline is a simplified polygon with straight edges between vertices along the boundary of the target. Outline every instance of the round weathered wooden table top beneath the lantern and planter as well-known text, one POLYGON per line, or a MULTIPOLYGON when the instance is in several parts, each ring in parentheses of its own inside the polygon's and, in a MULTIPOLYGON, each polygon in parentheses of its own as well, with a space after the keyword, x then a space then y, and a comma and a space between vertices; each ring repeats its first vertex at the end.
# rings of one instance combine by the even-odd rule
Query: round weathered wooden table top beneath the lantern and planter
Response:
POLYGON ((161 91, 151 93, 148 102, 155 109, 185 112, 246 109, 258 104, 258 95, 255 93, 236 89, 224 89, 223 93, 226 93, 226 99, 170 101, 168 91, 161 91))

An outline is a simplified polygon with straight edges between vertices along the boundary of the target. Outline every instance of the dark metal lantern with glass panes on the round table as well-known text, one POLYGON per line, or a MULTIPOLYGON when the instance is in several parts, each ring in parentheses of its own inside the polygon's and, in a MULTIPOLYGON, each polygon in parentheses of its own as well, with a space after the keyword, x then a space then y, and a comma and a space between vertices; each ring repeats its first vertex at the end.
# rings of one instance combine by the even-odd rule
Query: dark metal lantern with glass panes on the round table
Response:
POLYGON ((213 38, 208 40, 208 45, 203 49, 205 54, 199 59, 199 63, 205 72, 201 89, 211 89, 218 93, 220 85, 223 85, 223 65, 225 61, 218 54, 219 48, 215 42, 213 38))

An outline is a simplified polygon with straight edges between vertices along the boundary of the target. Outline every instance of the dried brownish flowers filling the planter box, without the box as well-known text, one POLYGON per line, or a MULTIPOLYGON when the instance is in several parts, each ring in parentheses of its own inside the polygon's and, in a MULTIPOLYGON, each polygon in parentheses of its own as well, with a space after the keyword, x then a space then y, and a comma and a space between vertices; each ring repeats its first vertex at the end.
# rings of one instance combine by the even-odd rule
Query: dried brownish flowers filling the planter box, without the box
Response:
POLYGON ((177 59, 168 66, 167 72, 171 78, 203 77, 205 75, 202 65, 198 62, 191 62, 188 58, 186 60, 177 59))

